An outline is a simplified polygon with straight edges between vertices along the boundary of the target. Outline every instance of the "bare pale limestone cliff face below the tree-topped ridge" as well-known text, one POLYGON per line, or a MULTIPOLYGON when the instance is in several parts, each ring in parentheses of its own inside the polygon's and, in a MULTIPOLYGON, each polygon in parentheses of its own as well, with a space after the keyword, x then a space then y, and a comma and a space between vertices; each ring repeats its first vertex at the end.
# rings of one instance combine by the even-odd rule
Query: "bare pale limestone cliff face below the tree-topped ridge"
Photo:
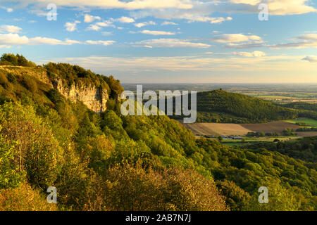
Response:
POLYGON ((106 110, 106 103, 109 99, 108 91, 97 86, 86 86, 81 84, 73 84, 65 86, 58 79, 52 82, 54 89, 59 91, 63 96, 69 98, 70 101, 82 101, 90 110, 95 113, 102 113, 106 110))

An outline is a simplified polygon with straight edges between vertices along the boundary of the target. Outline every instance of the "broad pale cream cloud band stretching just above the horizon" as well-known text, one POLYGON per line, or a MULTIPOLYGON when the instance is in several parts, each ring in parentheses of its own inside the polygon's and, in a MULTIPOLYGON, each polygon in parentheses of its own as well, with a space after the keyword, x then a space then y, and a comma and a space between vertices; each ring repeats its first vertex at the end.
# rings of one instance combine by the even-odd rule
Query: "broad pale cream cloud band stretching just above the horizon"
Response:
MULTIPOLYGON (((303 82, 310 80, 317 82, 315 63, 306 63, 304 56, 266 56, 266 57, 206 57, 206 56, 166 56, 166 57, 108 57, 89 56, 82 58, 58 58, 51 61, 63 61, 76 63, 84 68, 94 68, 101 73, 116 72, 117 75, 161 75, 166 77, 166 82, 182 79, 184 72, 187 74, 204 74, 213 77, 213 81, 223 81, 228 75, 226 82, 303 82), (161 71, 165 73, 162 74, 161 71), (168 71, 168 72, 166 72, 168 71), (179 77, 174 77, 173 72, 178 71, 179 77), (211 73, 212 71, 212 73, 211 73), (254 74, 254 71, 256 73, 254 74), (239 72, 240 75, 237 75, 239 72), (298 76, 298 74, 301 76, 298 76), (213 75, 213 76, 212 76, 213 75)), ((127 76, 130 77, 130 76, 127 76)), ((201 82, 206 82, 201 80, 201 82)), ((136 79, 133 77, 132 79, 136 79)), ((190 82, 192 76, 188 79, 190 82)), ((202 79, 197 77, 197 81, 202 79)), ((153 80, 153 76, 149 79, 153 80)), ((210 80, 209 80, 210 81, 210 80)))

